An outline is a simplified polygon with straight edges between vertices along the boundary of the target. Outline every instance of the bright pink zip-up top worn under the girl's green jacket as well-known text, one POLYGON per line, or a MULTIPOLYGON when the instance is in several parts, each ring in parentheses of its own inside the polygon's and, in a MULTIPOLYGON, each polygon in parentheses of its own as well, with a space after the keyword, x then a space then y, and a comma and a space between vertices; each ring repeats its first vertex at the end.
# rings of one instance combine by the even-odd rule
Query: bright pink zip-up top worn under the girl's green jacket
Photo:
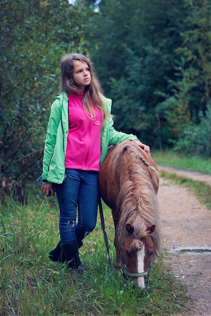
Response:
POLYGON ((69 131, 65 168, 100 170, 100 132, 102 114, 95 109, 95 122, 83 110, 82 91, 68 93, 69 131))

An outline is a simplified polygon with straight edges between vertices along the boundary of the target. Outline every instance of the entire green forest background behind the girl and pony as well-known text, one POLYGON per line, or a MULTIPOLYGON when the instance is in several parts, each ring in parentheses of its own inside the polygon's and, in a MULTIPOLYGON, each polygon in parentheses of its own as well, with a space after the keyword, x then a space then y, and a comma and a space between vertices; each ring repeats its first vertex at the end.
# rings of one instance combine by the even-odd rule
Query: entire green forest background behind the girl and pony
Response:
POLYGON ((70 52, 91 58, 117 130, 154 150, 211 155, 210 0, 8 0, 0 17, 0 178, 41 174, 70 52))

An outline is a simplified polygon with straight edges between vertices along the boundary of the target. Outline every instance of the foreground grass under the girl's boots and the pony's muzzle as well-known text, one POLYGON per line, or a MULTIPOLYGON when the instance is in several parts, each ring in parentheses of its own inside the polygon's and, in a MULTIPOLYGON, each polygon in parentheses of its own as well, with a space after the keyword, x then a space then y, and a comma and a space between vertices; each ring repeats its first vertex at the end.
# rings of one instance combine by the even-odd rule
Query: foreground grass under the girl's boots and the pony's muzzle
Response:
MULTIPOLYGON (((8 197, 1 204, 0 314, 3 315, 173 315, 183 310, 186 290, 171 274, 162 253, 150 270, 149 287, 142 292, 124 282, 108 266, 100 219, 80 249, 83 275, 48 258, 59 240, 56 198, 30 188, 28 204, 8 197), (164 263, 165 262, 165 263, 164 263)), ((114 227, 105 205, 104 217, 114 262, 114 227)))

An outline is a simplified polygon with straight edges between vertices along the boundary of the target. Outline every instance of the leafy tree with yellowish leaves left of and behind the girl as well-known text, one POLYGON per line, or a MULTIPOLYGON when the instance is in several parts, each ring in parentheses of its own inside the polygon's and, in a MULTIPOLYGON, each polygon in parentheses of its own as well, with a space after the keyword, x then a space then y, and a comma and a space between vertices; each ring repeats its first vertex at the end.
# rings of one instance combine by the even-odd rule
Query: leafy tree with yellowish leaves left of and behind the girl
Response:
POLYGON ((68 1, 8 0, 0 16, 0 177, 34 178, 41 172, 60 59, 86 52, 86 11, 68 1))

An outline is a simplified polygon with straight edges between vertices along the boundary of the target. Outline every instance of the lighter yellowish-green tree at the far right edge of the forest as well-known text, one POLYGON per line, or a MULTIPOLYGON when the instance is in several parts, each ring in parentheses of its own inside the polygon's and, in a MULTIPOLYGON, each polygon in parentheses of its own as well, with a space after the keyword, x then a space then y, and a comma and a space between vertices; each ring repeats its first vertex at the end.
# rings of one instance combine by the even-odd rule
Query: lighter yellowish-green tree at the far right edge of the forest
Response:
MULTIPOLYGON (((181 148, 177 143, 181 143, 184 137, 188 147, 187 139, 190 138, 186 135, 193 129, 197 130, 196 124, 201 126, 202 113, 204 117, 208 115, 207 106, 211 98, 211 3, 195 0, 185 4, 188 15, 186 29, 181 32, 181 44, 176 49, 175 79, 168 80, 168 91, 163 94, 165 100, 157 106, 162 117, 162 129, 168 129, 170 141, 176 144, 176 148, 181 148)), ((209 134, 206 142, 209 148, 209 134)))

